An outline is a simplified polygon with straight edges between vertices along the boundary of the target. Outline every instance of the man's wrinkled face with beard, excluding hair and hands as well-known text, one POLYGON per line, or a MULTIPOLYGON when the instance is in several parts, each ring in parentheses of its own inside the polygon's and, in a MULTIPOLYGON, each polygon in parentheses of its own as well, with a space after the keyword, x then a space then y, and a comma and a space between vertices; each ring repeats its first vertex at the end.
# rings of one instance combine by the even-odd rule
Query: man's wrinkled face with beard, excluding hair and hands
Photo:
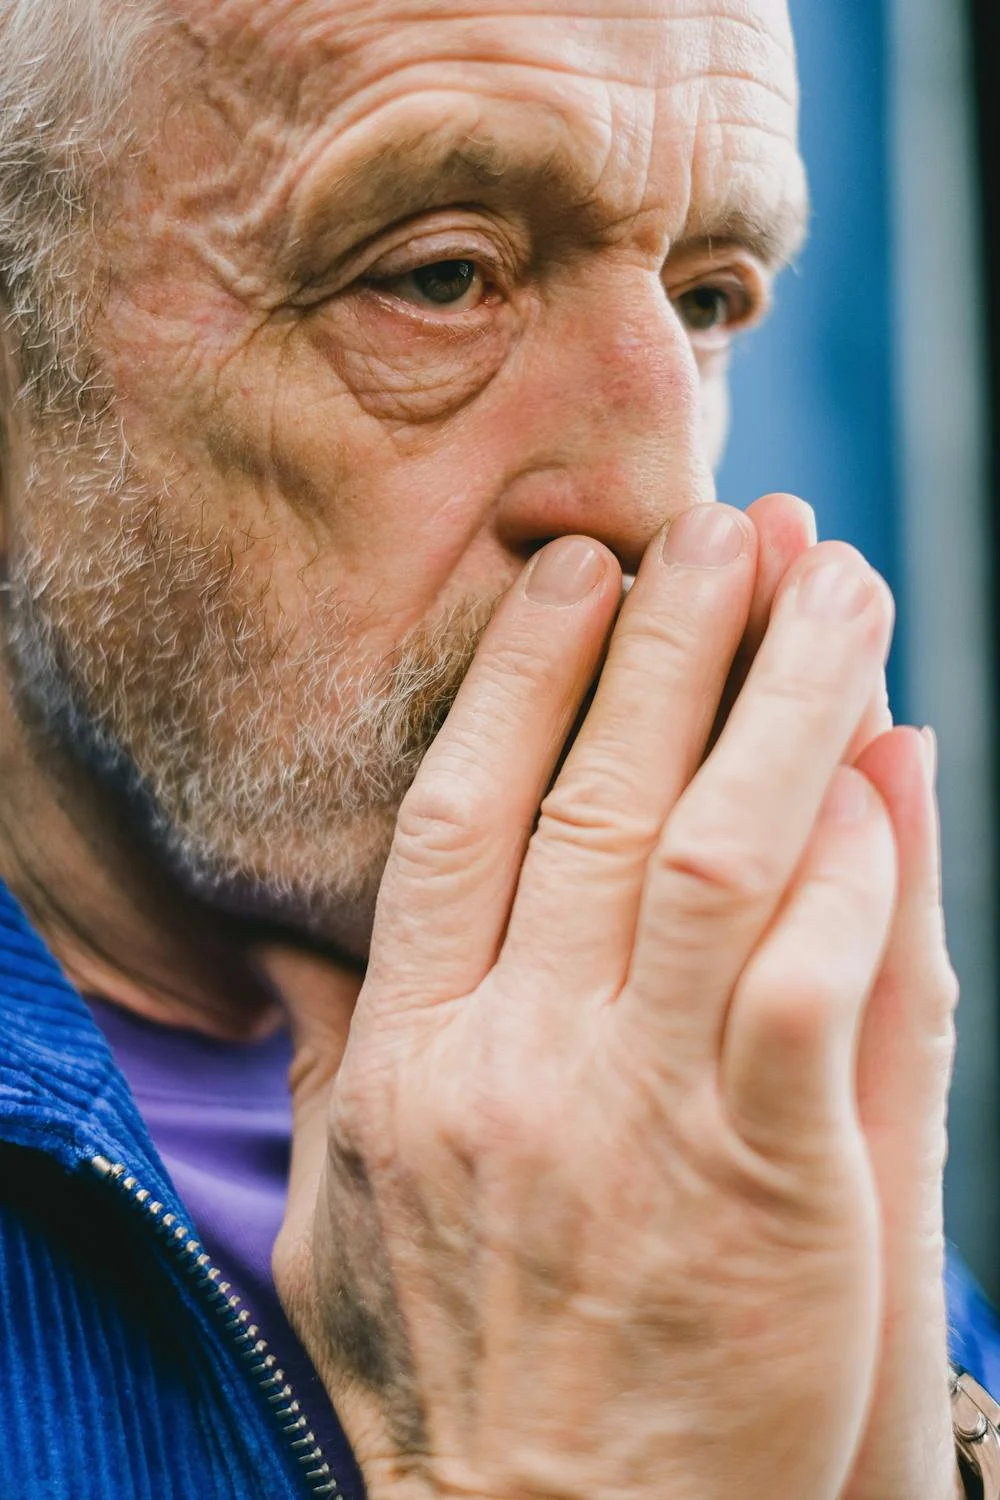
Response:
POLYGON ((783 0, 172 0, 16 651, 189 879, 337 932, 489 608, 712 498, 801 230, 783 0), (99 430, 100 428, 100 430, 99 430))

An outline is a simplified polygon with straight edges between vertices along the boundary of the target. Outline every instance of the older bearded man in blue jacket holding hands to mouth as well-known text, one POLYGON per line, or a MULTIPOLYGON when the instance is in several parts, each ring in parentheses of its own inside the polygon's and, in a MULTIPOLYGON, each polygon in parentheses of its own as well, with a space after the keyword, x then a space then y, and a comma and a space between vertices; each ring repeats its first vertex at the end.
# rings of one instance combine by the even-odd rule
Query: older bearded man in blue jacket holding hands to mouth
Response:
POLYGON ((0 0, 0 111, 3 1496, 990 1491, 933 740, 711 504, 783 0, 0 0))

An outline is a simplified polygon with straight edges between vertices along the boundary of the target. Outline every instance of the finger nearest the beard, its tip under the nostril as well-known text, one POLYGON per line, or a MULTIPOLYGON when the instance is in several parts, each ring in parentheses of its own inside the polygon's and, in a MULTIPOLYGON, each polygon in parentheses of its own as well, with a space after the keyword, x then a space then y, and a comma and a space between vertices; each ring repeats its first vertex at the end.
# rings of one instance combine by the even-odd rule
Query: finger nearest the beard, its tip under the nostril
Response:
POLYGON ((538 802, 619 598, 610 552, 562 537, 499 604, 399 812, 369 968, 384 993, 453 998, 495 962, 538 802))

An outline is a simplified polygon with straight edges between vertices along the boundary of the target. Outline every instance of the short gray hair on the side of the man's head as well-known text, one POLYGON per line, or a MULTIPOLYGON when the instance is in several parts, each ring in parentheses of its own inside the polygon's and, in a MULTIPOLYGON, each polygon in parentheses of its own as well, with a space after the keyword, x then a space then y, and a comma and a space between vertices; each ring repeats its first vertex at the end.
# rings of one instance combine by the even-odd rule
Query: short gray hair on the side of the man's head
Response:
MULTIPOLYGON (((21 398, 79 408, 99 183, 127 148, 150 0, 0 0, 0 315, 21 398)), ((1 418, 0 412, 0 418, 1 418)))

